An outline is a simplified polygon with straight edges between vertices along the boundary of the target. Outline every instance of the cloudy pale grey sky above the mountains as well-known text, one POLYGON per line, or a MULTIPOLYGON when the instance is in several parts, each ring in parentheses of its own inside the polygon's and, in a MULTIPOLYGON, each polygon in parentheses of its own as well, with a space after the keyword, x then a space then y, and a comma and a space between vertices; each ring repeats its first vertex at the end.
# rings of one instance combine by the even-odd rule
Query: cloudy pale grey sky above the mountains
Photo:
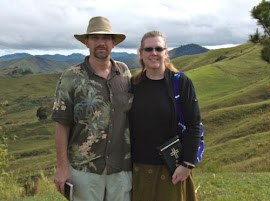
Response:
POLYGON ((247 42, 258 28, 250 15, 261 0, 0 0, 0 56, 17 52, 88 54, 74 38, 89 19, 107 17, 126 40, 113 51, 135 53, 144 33, 163 32, 170 48, 209 49, 247 42))

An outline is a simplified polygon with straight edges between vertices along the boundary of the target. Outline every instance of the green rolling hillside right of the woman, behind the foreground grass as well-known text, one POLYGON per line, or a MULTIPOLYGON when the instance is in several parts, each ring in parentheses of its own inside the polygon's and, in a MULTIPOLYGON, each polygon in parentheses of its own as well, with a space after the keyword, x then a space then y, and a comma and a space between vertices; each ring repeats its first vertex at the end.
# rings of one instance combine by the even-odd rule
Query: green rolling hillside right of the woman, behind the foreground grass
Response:
POLYGON ((260 58, 261 49, 246 43, 172 61, 198 94, 206 145, 202 169, 270 170, 270 65, 260 58))

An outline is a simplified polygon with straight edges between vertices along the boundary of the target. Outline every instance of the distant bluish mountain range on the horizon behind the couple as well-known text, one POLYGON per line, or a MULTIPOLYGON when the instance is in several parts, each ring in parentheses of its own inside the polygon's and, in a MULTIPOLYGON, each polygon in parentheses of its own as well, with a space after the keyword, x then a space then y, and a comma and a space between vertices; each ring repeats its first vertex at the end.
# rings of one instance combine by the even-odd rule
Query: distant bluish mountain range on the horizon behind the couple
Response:
MULTIPOLYGON (((169 51, 170 59, 184 55, 194 55, 207 52, 208 49, 199 45, 189 44, 174 48, 169 51)), ((136 54, 129 54, 126 52, 112 52, 112 58, 117 61, 122 61, 128 65, 130 69, 140 67, 139 60, 136 54)), ((68 56, 55 54, 55 55, 30 55, 27 53, 16 53, 0 57, 0 70, 18 67, 22 70, 30 70, 33 73, 53 73, 61 72, 66 68, 80 63, 84 60, 83 54, 71 54, 68 56)), ((10 74, 10 69, 0 74, 10 74)), ((12 70, 13 72, 13 70, 12 70)), ((17 70, 16 70, 17 72, 17 70)))

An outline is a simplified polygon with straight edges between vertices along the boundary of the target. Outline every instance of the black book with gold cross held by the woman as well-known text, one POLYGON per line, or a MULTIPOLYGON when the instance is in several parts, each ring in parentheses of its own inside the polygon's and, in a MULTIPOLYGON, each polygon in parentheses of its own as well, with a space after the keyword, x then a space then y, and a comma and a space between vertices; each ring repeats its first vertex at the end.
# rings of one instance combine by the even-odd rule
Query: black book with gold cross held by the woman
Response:
POLYGON ((182 143, 177 136, 157 147, 158 152, 171 175, 182 162, 182 143))

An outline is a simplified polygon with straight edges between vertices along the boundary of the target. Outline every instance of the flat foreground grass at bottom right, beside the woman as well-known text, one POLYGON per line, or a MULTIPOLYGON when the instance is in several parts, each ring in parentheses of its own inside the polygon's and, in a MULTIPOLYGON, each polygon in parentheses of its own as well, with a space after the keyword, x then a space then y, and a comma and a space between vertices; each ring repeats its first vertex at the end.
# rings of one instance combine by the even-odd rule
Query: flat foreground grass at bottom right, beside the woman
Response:
POLYGON ((270 173, 194 174, 198 201, 267 201, 270 173))

